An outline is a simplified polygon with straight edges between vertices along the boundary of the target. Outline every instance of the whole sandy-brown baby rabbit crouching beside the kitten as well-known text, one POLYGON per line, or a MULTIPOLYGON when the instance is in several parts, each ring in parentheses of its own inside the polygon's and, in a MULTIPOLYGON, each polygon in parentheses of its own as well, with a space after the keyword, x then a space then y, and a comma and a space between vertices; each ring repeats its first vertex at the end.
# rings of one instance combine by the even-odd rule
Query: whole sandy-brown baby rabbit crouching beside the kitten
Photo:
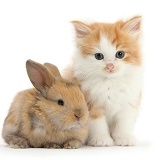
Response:
POLYGON ((56 66, 32 60, 27 73, 35 88, 18 93, 3 125, 11 147, 79 148, 88 135, 88 108, 79 87, 56 66))

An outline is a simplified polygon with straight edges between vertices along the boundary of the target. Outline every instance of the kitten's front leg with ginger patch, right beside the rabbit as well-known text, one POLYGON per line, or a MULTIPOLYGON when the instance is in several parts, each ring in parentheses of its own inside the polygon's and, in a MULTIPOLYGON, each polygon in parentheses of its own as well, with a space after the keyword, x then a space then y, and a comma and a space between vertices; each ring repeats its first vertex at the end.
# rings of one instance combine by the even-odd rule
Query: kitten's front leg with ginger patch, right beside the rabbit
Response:
POLYGON ((109 134, 106 117, 104 114, 100 114, 99 108, 90 111, 87 144, 91 146, 112 146, 114 144, 109 134))

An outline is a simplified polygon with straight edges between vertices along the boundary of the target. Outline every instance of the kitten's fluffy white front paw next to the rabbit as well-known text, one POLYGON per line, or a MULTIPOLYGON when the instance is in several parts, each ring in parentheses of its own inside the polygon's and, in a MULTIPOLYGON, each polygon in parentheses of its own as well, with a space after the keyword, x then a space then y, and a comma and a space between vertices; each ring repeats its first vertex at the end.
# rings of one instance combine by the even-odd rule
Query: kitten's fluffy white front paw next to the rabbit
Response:
POLYGON ((114 141, 110 136, 92 137, 88 139, 87 145, 95 147, 113 146, 114 141))

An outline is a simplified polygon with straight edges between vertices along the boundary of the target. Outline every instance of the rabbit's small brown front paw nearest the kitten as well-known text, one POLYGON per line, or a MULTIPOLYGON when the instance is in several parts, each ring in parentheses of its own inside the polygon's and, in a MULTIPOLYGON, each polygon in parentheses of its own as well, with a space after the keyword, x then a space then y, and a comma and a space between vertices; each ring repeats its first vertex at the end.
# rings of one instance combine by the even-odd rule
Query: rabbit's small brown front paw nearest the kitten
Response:
POLYGON ((64 144, 65 149, 77 149, 82 146, 82 143, 78 140, 70 140, 64 144))

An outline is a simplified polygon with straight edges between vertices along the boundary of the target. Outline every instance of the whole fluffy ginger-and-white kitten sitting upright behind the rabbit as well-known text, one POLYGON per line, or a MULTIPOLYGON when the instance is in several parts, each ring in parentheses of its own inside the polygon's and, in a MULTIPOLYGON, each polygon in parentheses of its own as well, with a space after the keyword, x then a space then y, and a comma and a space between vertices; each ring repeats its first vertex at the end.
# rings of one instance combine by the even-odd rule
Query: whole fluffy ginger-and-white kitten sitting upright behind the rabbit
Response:
POLYGON ((90 110, 88 145, 135 145, 132 135, 142 87, 141 17, 115 23, 72 21, 76 79, 90 110))

